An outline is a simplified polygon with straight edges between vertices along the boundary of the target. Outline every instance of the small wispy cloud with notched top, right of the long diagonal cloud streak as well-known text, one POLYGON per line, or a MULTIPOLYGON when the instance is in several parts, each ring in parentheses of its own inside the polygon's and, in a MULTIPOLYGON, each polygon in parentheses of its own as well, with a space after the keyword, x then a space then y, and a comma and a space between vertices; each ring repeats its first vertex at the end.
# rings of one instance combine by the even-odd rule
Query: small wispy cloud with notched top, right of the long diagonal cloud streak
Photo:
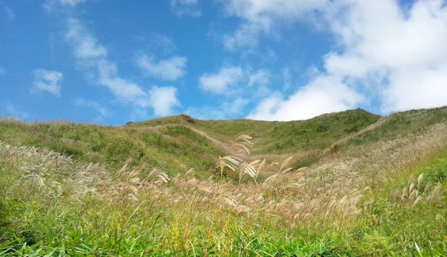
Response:
POLYGON ((144 72, 164 81, 176 81, 185 75, 186 57, 174 56, 156 62, 150 56, 140 56, 137 65, 144 72))

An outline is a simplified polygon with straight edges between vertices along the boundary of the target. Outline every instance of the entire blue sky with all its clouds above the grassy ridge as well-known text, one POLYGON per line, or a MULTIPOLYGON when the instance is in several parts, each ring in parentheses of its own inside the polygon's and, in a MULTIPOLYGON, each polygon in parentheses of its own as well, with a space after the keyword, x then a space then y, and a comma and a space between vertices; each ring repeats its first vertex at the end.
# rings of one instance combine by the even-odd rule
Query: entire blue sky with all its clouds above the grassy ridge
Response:
POLYGON ((447 105, 447 2, 0 0, 0 116, 123 124, 447 105))

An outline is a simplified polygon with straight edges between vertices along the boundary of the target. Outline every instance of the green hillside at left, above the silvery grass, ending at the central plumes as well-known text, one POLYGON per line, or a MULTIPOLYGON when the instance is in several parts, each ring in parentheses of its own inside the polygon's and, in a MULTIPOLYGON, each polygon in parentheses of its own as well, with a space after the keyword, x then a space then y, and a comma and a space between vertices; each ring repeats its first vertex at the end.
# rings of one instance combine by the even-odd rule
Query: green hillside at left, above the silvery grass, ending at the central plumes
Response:
POLYGON ((214 163, 213 158, 223 154, 209 140, 182 126, 151 131, 84 124, 0 122, 0 140, 47 147, 77 160, 100 162, 113 168, 132 158, 133 165, 146 164, 171 174, 192 167, 207 170, 214 163))

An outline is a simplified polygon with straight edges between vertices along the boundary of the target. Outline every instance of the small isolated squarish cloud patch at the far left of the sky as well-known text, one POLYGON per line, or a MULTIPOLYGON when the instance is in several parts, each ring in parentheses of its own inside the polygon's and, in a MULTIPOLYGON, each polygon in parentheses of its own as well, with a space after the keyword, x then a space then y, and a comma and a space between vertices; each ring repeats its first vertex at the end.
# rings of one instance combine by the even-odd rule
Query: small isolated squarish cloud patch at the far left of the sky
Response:
POLYGON ((47 69, 35 69, 33 71, 34 81, 33 92, 49 92, 60 97, 60 81, 62 72, 50 71, 47 69))

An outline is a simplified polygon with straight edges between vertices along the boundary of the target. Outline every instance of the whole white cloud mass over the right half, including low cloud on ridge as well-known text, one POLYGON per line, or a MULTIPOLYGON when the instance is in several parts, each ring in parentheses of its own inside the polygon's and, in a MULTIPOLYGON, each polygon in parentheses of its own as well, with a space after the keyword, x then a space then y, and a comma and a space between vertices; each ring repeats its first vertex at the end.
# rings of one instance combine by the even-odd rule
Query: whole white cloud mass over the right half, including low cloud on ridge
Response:
POLYGON ((226 8, 244 21, 226 35, 227 49, 254 46, 273 27, 294 22, 324 28, 337 42, 310 83, 264 99, 250 117, 303 119, 371 101, 385 114, 447 104, 445 1, 415 1, 404 10, 398 1, 232 0, 226 8))

